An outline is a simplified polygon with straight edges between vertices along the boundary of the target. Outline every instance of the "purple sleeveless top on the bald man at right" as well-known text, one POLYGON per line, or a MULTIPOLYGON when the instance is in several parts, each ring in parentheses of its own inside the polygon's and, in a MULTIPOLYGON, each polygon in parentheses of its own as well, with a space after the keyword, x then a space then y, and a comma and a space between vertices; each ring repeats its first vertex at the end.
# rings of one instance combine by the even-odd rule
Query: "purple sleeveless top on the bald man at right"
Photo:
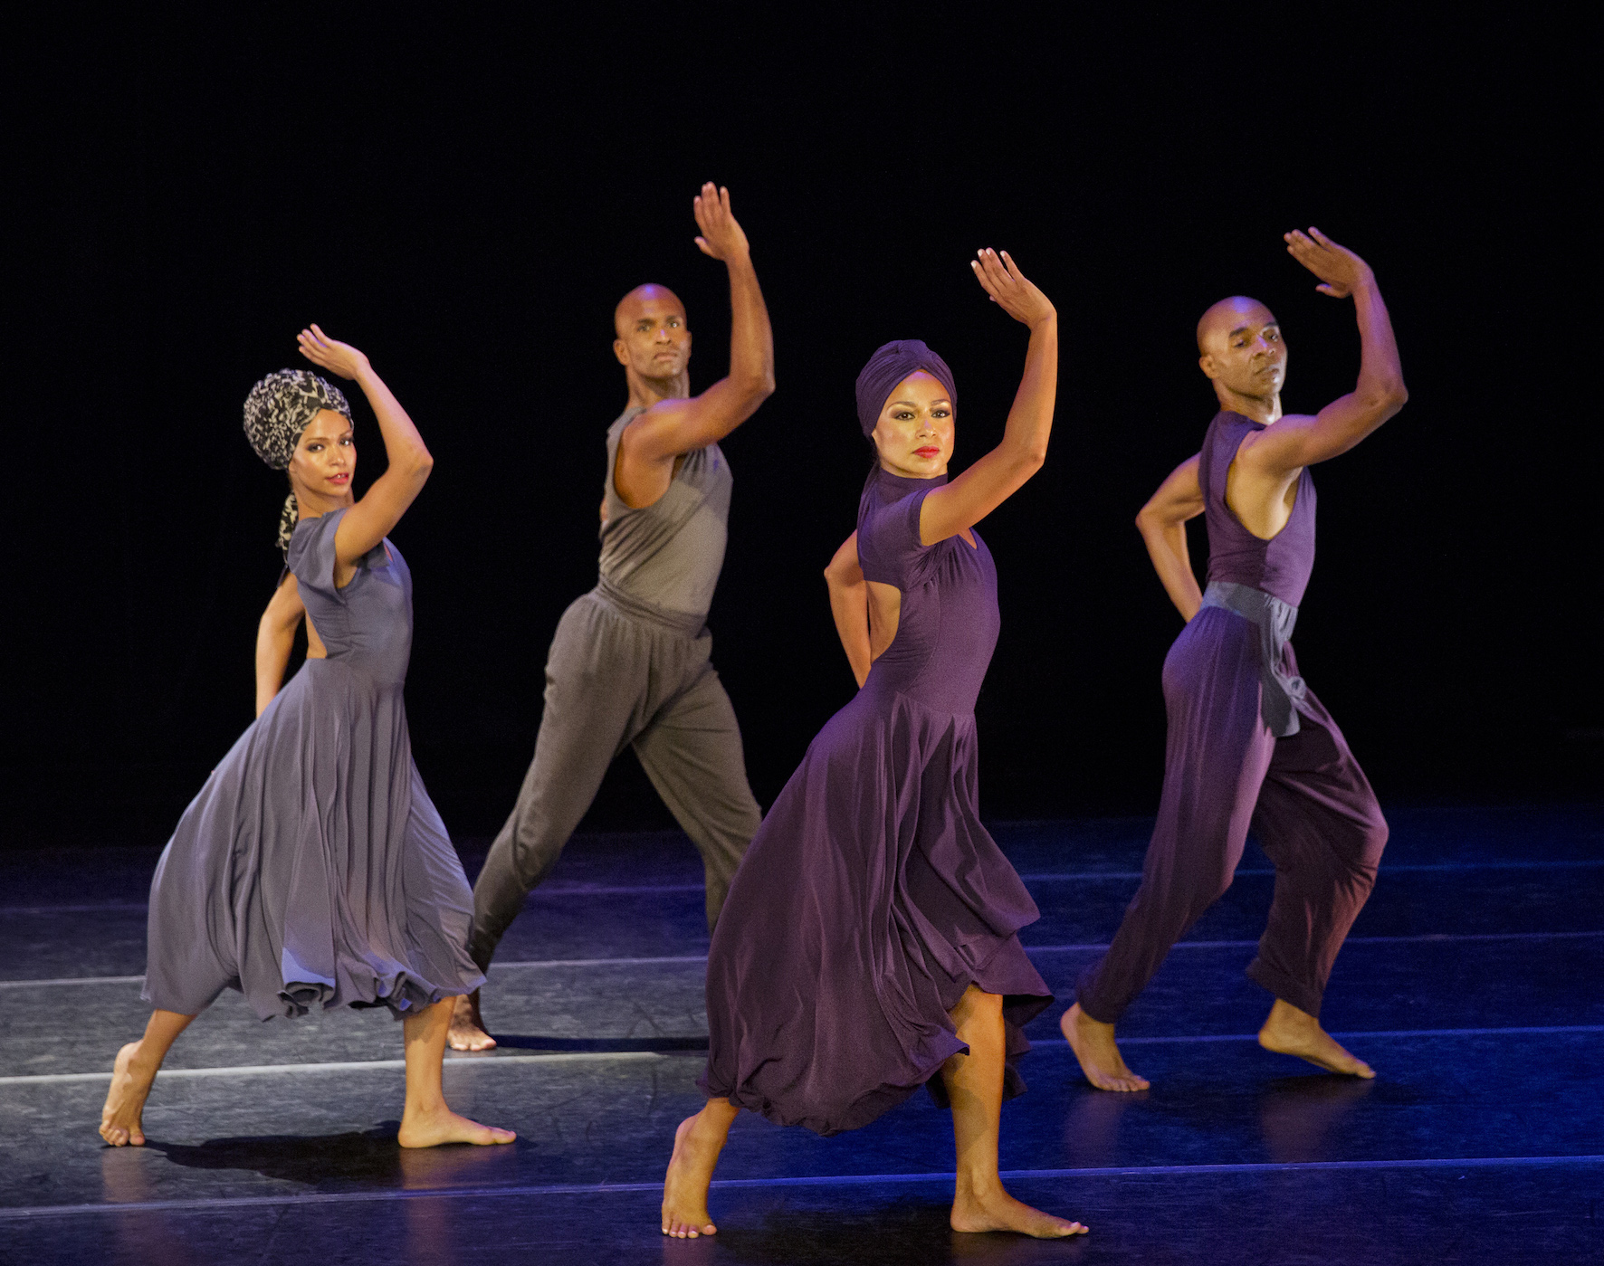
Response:
POLYGON ((1280 598, 1288 606, 1302 603, 1309 572, 1314 569, 1314 478, 1304 466, 1298 476, 1298 500, 1286 526, 1269 540, 1259 540, 1241 526, 1225 505, 1225 476, 1237 449, 1262 421, 1224 410, 1214 415, 1198 454, 1198 487, 1203 489, 1203 516, 1208 524, 1208 579, 1248 585, 1280 598))

